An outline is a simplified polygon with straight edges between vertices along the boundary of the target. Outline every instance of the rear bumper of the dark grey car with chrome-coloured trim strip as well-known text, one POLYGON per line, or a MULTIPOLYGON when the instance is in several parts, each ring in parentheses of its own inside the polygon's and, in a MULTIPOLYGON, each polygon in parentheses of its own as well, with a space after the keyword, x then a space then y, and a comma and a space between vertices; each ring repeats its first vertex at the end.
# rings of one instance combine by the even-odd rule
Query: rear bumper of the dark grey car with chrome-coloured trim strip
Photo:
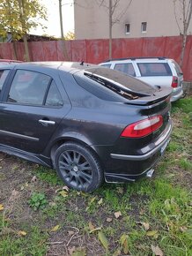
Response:
POLYGON ((148 151, 144 148, 145 154, 110 154, 113 169, 106 170, 105 180, 108 183, 123 183, 135 181, 140 177, 147 176, 147 173, 154 168, 164 154, 170 141, 172 132, 172 121, 166 127, 166 131, 157 141, 148 146, 148 151))

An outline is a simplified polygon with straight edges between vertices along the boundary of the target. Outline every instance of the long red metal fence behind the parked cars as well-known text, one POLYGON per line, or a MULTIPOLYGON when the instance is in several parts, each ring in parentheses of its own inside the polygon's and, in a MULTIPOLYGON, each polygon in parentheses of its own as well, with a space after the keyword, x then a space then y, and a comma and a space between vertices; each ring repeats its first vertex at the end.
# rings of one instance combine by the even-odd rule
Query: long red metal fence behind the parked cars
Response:
MULTIPOLYGON (((114 39, 113 58, 130 56, 166 56, 177 62, 181 56, 181 36, 114 39)), ((62 41, 29 42, 32 61, 64 60, 62 41)), ((108 59, 108 40, 75 40, 65 42, 69 60, 99 64, 108 59)), ((17 42, 18 60, 25 59, 24 44, 17 42)), ((0 58, 13 58, 12 43, 0 43, 0 58)), ((192 81, 192 35, 188 35, 182 67, 184 79, 192 81)))

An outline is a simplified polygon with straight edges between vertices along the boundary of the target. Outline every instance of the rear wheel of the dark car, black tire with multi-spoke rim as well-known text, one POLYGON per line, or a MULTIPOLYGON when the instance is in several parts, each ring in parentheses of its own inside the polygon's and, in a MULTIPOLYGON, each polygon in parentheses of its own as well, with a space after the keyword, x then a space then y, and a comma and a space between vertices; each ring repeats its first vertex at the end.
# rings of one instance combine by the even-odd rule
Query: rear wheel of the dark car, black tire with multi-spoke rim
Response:
POLYGON ((64 143, 55 151, 55 169, 70 188, 83 192, 96 190, 103 181, 98 157, 76 142, 64 143))

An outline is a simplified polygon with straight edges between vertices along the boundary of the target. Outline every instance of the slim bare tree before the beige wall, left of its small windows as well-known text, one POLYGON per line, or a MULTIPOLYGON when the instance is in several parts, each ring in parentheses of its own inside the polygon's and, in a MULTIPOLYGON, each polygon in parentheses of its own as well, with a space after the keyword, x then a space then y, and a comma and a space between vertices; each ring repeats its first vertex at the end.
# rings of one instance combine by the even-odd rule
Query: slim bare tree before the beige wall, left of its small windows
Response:
POLYGON ((109 44, 108 44, 108 56, 109 59, 112 58, 112 39, 113 39, 113 26, 118 23, 122 16, 128 11, 129 6, 132 0, 128 1, 128 4, 124 10, 121 11, 121 8, 118 8, 120 5, 120 0, 96 0, 100 6, 103 6, 107 9, 108 12, 108 36, 109 36, 109 44), (119 9, 119 13, 116 13, 117 9, 119 9))

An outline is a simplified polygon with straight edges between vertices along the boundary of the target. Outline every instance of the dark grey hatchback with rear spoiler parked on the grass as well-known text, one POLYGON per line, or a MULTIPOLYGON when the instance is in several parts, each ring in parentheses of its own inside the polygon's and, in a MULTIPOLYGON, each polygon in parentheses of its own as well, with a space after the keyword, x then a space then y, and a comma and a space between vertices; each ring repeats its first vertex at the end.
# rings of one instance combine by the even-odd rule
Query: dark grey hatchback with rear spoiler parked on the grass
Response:
POLYGON ((172 131, 170 94, 97 65, 1 65, 0 151, 78 191, 151 176, 172 131))

